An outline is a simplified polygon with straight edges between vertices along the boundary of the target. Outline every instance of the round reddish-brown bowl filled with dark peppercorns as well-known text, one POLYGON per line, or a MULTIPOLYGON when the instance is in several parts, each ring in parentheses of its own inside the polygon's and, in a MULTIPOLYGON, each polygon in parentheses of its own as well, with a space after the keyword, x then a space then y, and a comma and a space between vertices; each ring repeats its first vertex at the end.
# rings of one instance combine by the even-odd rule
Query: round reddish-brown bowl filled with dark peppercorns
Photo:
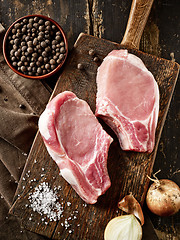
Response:
POLYGON ((61 26, 43 15, 16 20, 7 30, 3 54, 9 67, 31 79, 44 79, 56 73, 68 54, 68 43, 61 26))

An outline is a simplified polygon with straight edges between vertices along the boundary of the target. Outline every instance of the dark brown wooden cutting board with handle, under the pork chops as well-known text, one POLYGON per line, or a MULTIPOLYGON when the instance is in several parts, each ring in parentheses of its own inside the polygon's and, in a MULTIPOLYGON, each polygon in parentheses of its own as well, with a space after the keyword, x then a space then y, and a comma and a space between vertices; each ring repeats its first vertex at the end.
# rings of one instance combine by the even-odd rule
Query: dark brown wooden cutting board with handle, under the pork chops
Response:
MULTIPOLYGON (((133 1, 132 9, 142 11, 144 9, 143 5, 138 8, 139 5, 136 5, 136 3, 142 4, 144 2, 151 2, 152 5, 152 1, 138 0, 133 1)), ((148 6, 149 11, 151 5, 148 6)), ((147 9, 145 12, 146 14, 143 10, 143 14, 147 18, 147 9)), ((142 19, 137 18, 137 12, 136 14, 133 13, 133 16, 136 16, 136 20, 139 19, 138 21, 142 23, 142 19)), ((142 28, 144 28, 145 22, 142 23, 142 28)), ((20 218, 23 226, 30 231, 52 239, 103 239, 107 223, 113 217, 121 214, 117 208, 119 199, 131 192, 141 204, 144 202, 149 184, 147 175, 150 176, 152 173, 160 135, 176 84, 179 65, 132 48, 132 46, 138 47, 139 35, 142 33, 130 39, 130 36, 132 37, 135 33, 132 33, 130 23, 128 23, 128 27, 128 32, 131 34, 128 35, 126 32, 122 42, 123 45, 83 33, 80 34, 51 98, 62 91, 70 90, 79 98, 86 100, 94 112, 97 90, 95 80, 98 66, 113 49, 125 48, 124 45, 130 46, 127 47, 128 51, 142 59, 154 75, 160 90, 160 111, 154 151, 150 154, 122 151, 115 134, 100 120, 105 130, 114 138, 108 156, 108 172, 112 185, 103 196, 99 197, 96 204, 87 205, 59 175, 59 169, 47 153, 38 132, 18 185, 16 199, 10 210, 10 213, 20 218), (94 56, 89 55, 91 49, 95 50, 94 56), (95 57, 98 57, 98 61, 95 61, 97 60, 94 59, 95 57), (77 68, 79 63, 83 66, 82 70, 77 68), (49 187, 57 192, 57 201, 63 206, 63 216, 59 221, 50 221, 45 215, 41 216, 30 207, 29 197, 34 189, 43 182, 48 183, 49 187)))

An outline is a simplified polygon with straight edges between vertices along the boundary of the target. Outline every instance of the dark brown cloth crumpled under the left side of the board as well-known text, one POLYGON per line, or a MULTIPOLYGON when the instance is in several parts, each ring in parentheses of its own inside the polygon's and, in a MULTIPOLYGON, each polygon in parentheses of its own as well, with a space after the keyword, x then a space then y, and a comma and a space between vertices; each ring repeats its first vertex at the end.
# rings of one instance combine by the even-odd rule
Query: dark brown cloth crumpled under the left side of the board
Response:
POLYGON ((46 239, 22 229, 8 211, 50 91, 8 67, 2 55, 4 32, 0 24, 0 239, 46 239))

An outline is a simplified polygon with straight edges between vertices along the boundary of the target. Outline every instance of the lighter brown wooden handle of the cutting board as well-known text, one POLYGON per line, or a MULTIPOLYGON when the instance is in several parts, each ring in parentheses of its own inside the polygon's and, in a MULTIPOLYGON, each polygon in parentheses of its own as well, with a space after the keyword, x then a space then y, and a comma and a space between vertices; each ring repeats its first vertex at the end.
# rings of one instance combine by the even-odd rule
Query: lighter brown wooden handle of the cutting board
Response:
POLYGON ((153 0, 133 0, 126 31, 121 42, 130 48, 139 49, 141 36, 146 25, 153 0))

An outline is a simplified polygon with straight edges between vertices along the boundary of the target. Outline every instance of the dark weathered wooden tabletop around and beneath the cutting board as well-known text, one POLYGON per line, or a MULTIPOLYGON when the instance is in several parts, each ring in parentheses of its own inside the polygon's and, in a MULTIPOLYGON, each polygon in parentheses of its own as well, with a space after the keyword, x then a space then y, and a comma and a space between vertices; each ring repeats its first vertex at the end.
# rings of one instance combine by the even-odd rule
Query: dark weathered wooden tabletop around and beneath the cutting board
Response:
MULTIPOLYGON (((4 0, 0 2, 0 22, 7 29, 17 18, 28 14, 43 14, 56 20, 64 29, 72 48, 80 32, 121 42, 125 32, 130 0, 4 0)), ((145 27, 140 50, 172 59, 180 63, 180 2, 179 0, 155 0, 145 27)), ((54 87, 55 79, 48 79, 54 87)), ((180 106, 179 81, 171 101, 167 119, 159 143, 153 172, 159 169, 159 178, 169 178, 180 185, 178 162, 180 106)), ((160 218, 151 214, 145 206, 159 239, 179 239, 179 214, 160 218)))

